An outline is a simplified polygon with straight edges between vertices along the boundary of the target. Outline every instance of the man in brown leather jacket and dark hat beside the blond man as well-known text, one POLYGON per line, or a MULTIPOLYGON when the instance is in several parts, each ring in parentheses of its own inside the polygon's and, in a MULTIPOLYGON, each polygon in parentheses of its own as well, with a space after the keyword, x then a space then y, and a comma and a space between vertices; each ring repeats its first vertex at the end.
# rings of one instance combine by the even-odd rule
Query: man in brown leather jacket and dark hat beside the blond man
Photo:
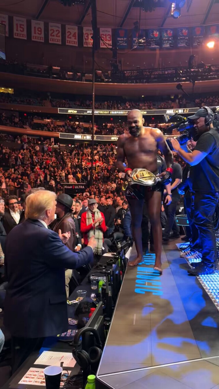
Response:
MULTIPOLYGON (((71 207, 72 207, 72 198, 69 195, 65 195, 65 193, 61 193, 57 197, 57 205, 56 205, 56 215, 57 219, 56 222, 53 223, 53 231, 58 233, 58 230, 61 231, 67 231, 71 233, 71 237, 66 243, 66 246, 71 250, 75 251, 76 249, 76 229, 75 229, 75 223, 72 219, 71 213, 71 207)), ((78 251, 79 247, 77 246, 78 251)), ((69 281, 72 276, 72 270, 71 269, 65 269, 65 290, 67 298, 69 297, 69 281)))

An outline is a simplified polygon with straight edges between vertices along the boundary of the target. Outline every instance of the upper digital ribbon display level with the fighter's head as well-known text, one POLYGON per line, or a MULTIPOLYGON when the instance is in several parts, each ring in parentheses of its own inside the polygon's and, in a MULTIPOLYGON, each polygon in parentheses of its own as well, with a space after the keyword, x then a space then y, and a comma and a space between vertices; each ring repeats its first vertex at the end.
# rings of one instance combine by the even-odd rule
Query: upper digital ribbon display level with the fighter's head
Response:
MULTIPOLYGON (((179 109, 152 109, 141 110, 142 115, 173 115, 173 114, 193 114, 199 108, 179 108, 179 109)), ((101 110, 95 109, 95 115, 127 115, 130 110, 101 110)), ((74 108, 58 108, 59 114, 77 114, 77 115, 92 115, 92 109, 74 109, 74 108)))

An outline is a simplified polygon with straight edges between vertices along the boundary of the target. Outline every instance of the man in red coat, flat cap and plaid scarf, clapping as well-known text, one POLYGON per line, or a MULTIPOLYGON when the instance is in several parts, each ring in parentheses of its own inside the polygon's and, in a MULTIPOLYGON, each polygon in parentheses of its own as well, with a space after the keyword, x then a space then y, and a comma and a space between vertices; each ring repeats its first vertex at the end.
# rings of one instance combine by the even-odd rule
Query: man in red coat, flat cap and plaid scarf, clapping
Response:
POLYGON ((90 237, 95 235, 97 247, 94 253, 102 254, 103 234, 106 232, 104 214, 97 209, 97 201, 92 198, 88 200, 88 210, 81 215, 81 233, 84 237, 84 244, 87 246, 90 237))

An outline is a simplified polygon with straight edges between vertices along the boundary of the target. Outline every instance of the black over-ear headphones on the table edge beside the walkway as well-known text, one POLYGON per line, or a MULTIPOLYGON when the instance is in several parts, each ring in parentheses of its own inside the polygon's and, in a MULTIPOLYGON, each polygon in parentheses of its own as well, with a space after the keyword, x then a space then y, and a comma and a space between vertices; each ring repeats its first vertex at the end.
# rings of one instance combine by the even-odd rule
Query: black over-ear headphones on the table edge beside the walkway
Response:
POLYGON ((74 337, 73 347, 72 355, 83 370, 87 370, 92 364, 99 363, 102 355, 102 342, 96 329, 85 327, 79 330, 74 337), (83 336, 85 332, 91 332, 96 340, 96 346, 90 347, 88 352, 79 350, 80 345, 78 344, 80 337, 83 336))

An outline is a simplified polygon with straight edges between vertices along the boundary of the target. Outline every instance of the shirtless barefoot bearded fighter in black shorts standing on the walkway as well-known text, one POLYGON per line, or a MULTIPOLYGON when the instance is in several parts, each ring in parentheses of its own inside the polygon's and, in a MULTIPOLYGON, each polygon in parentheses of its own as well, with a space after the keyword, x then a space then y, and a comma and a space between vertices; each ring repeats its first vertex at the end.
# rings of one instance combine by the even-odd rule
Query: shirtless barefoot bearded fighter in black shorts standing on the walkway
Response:
MULTIPOLYGON (((157 128, 143 127, 144 119, 138 109, 133 109, 128 114, 127 125, 129 133, 120 135, 117 141, 117 168, 120 172, 125 172, 125 178, 131 176, 131 171, 135 168, 145 168, 157 175, 157 150, 160 149, 167 165, 167 171, 171 174, 173 154, 168 147, 164 136, 157 128), (128 168, 125 169, 125 158, 128 168)), ((163 174, 163 173, 162 173, 163 174)), ((165 174, 165 173, 164 173, 165 174)), ((171 203, 170 184, 166 186, 167 196, 165 202, 171 203)), ((132 217, 132 233, 136 245, 137 258, 131 262, 130 266, 138 265, 143 260, 143 249, 141 241, 141 221, 143 211, 143 200, 148 207, 148 217, 152 225, 155 265, 154 268, 162 273, 161 269, 161 249, 162 249, 162 228, 160 221, 162 187, 159 184, 147 187, 132 185, 136 196, 132 196, 129 191, 125 196, 129 203, 132 217)))

